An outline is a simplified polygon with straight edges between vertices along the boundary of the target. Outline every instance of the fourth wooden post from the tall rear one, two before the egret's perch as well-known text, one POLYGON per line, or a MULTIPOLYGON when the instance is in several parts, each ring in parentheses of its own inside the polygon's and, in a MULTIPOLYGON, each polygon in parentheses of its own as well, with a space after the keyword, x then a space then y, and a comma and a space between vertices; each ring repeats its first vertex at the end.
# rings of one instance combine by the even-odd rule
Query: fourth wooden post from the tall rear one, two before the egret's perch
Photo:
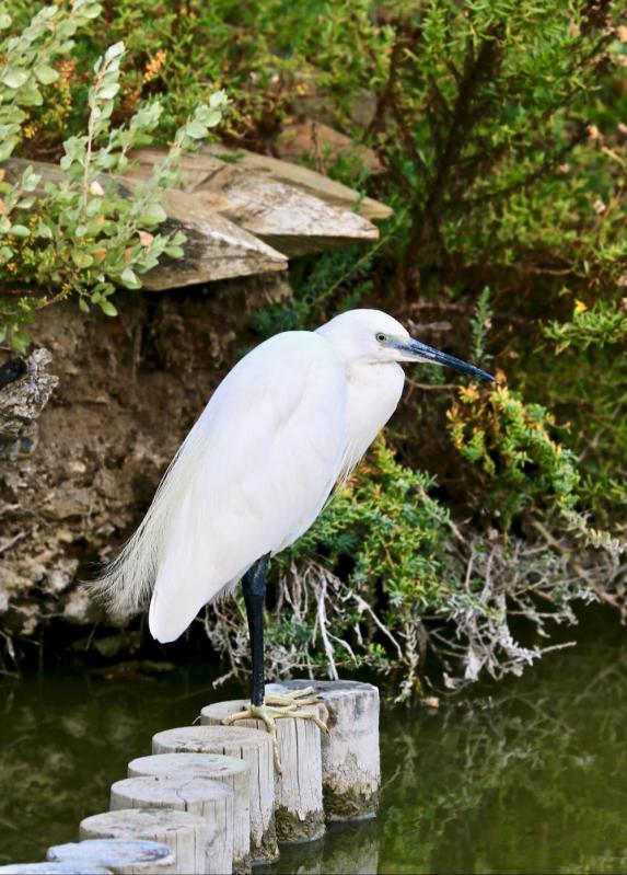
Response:
MULTIPOLYGON (((231 787, 234 796, 233 872, 243 875, 251 871, 251 769, 244 760, 220 753, 158 753, 131 760, 128 776, 144 775, 210 778, 231 787)), ((181 871, 191 872, 190 868, 181 871)))

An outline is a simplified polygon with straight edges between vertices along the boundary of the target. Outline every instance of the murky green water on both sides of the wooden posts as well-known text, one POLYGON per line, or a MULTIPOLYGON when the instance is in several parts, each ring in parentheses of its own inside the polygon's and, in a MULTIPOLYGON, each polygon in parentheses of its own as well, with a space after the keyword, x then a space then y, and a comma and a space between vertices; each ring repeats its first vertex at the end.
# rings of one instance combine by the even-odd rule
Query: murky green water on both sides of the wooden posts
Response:
MULTIPOLYGON (((198 669, 0 683, 0 863, 74 839, 153 733, 237 691, 198 669)), ((286 850, 272 872, 627 873, 626 723, 616 626, 438 713, 385 706, 378 820, 286 850)))

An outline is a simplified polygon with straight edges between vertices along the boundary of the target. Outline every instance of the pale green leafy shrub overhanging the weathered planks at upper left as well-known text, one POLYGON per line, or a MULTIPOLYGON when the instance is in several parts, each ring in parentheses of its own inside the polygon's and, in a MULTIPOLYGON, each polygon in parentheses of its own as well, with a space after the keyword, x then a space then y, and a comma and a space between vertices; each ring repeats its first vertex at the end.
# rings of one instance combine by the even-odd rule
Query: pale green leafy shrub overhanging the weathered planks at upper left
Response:
MULTIPOLYGON (((40 103, 39 85, 58 80, 50 64, 72 48, 68 37, 98 11, 97 4, 81 2, 67 14, 59 7, 48 7, 20 36, 4 39, 0 48, 5 57, 0 71, 0 123, 8 131, 3 159, 23 136, 27 119, 23 107, 40 103), (60 39, 65 42, 59 44, 60 39)), ((4 24, 10 25, 8 16, 4 24)), ((95 304, 107 315, 116 315, 111 301, 116 287, 139 288, 141 274, 163 254, 183 255, 183 233, 156 232, 166 218, 162 195, 176 184, 179 156, 221 120, 225 94, 218 91, 208 104, 196 107, 149 180, 130 186, 129 197, 103 174, 124 173, 129 150, 148 141, 159 126, 162 107, 153 101, 125 125, 112 125, 124 55, 124 44, 116 43, 97 60, 88 97, 86 131, 63 142, 58 182, 42 183, 33 166, 26 166, 14 182, 0 182, 0 281, 7 286, 18 279, 20 287, 32 284, 35 292, 0 300, 0 342, 8 336, 18 350, 27 344, 23 326, 35 310, 76 297, 84 312, 95 304), (37 293, 37 289, 50 291, 37 293)))

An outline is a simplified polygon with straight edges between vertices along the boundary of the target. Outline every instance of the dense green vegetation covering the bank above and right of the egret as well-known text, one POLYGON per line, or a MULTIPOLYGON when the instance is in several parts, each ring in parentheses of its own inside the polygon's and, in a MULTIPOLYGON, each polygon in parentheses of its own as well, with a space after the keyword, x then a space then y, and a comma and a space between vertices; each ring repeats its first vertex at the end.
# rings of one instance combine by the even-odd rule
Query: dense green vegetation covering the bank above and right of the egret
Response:
MULTIPOLYGON (((395 214, 373 250, 294 262, 293 298, 256 314, 259 336, 379 306, 500 377, 409 375, 386 442, 275 565, 277 670, 367 661, 398 670, 406 696, 429 653, 430 677, 454 686, 520 671, 578 599, 625 613, 620 4, 164 0, 155 14, 76 0, 31 24, 28 4, 10 12, 0 157, 59 158, 66 174, 37 202, 32 173, 0 183, 0 331, 18 349, 38 307, 76 297, 115 315, 116 287, 179 253, 158 233, 159 196, 208 128, 271 152, 304 115, 356 149, 303 160, 395 214), (174 145, 130 206, 96 177, 148 135, 174 145)), ((239 606, 207 629, 241 670, 239 606)))

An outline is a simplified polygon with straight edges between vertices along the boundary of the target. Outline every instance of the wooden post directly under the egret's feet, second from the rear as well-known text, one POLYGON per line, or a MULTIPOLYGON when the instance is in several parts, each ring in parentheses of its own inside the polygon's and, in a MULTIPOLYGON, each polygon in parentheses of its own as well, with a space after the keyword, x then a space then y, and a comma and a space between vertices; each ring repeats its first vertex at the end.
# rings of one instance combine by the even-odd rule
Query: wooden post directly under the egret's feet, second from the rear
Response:
MULTIPOLYGON (((236 699, 207 705, 201 711, 206 725, 219 725, 230 714, 243 711, 247 702, 236 699)), ((318 709, 303 705, 304 710, 318 709)), ((320 712, 318 712, 320 713, 320 712)), ((260 729, 258 719, 242 721, 260 729)), ((275 819, 279 842, 309 841, 324 834, 322 797, 321 732, 313 721, 281 717, 277 721, 277 744, 282 775, 275 780, 275 819)))

